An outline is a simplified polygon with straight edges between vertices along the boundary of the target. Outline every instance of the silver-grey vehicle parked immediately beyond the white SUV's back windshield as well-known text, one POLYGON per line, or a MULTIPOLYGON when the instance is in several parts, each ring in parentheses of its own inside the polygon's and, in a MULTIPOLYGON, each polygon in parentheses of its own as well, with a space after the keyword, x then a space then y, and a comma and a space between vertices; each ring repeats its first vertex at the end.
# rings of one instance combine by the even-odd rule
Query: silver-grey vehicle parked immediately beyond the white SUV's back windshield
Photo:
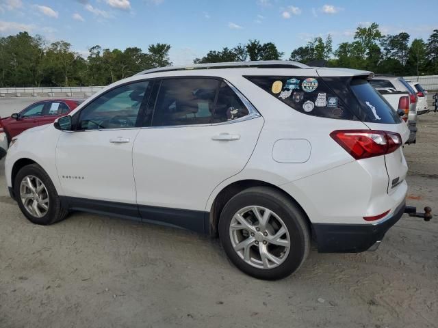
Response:
MULTIPOLYGON (((408 92, 409 93, 409 114, 407 118, 407 124, 411 135, 406 143, 416 143, 417 141, 417 93, 411 85, 404 81, 402 77, 394 77, 376 74, 373 79, 370 80, 372 86, 376 89, 390 88, 396 90, 396 92, 408 92)), ((384 98, 387 98, 387 93, 383 94, 384 98)), ((397 107, 394 107, 397 110, 397 107)))

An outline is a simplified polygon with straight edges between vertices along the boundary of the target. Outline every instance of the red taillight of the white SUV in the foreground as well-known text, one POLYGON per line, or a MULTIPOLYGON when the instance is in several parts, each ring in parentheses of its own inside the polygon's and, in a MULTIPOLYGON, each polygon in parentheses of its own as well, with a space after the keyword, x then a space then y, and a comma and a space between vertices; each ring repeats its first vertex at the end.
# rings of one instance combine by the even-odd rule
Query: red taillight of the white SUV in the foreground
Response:
POLYGON ((389 131, 337 130, 330 136, 355 159, 390 154, 402 146, 402 137, 389 131))

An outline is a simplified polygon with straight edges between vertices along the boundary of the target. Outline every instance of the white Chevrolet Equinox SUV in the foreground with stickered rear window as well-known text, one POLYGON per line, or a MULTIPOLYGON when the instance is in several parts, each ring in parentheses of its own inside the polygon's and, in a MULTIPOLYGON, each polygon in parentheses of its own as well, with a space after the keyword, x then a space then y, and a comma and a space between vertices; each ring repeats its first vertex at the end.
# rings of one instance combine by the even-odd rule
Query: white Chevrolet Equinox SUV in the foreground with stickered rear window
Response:
POLYGON ((404 213, 407 125, 370 72, 290 61, 149 70, 12 140, 32 222, 83 210, 219 236, 242 271, 365 251, 404 213))

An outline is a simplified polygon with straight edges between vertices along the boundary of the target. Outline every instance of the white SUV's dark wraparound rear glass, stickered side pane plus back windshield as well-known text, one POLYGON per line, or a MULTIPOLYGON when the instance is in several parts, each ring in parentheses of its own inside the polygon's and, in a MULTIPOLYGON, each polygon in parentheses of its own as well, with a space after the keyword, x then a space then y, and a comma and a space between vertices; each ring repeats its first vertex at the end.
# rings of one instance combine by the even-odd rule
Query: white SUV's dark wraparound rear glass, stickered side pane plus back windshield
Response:
POLYGON ((246 76, 281 102, 306 115, 338 120, 400 123, 396 111, 366 79, 352 77, 246 76))

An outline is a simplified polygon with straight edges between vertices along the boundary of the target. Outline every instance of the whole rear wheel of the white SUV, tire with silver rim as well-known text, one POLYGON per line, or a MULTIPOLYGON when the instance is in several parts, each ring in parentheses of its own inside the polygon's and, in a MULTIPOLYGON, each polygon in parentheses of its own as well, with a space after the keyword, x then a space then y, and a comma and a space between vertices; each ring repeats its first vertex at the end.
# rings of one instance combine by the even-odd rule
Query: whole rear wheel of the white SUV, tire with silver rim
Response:
POLYGON ((232 197, 220 214, 218 230, 231 262, 258 279, 287 277, 309 255, 305 213, 271 187, 252 187, 232 197))

